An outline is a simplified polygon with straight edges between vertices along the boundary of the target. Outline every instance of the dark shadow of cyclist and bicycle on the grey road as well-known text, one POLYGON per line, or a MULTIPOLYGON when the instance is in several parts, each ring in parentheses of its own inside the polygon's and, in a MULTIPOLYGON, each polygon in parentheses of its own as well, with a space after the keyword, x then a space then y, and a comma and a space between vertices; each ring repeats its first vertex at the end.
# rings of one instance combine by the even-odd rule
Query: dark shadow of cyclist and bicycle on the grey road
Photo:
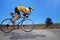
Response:
POLYGON ((36 38, 36 37, 46 37, 46 35, 38 35, 38 34, 32 34, 32 33, 6 33, 4 36, 10 36, 9 39, 31 39, 31 38, 36 38))

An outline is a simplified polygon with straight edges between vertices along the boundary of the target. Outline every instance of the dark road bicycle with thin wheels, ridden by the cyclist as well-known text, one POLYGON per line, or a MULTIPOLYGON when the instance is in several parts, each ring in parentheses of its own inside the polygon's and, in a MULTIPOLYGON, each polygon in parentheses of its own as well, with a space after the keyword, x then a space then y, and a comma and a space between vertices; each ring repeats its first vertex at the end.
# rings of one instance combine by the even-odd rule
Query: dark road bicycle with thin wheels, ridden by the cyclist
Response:
MULTIPOLYGON (((1 25, 3 25, 1 27, 1 31, 4 33, 9 33, 15 29, 15 25, 13 24, 15 13, 10 13, 10 15, 12 16, 10 19, 4 19, 1 22, 1 25)), ((16 25, 18 28, 21 27, 24 32, 31 32, 34 29, 34 22, 31 19, 28 19, 28 16, 29 14, 26 14, 24 17, 20 17, 22 20, 16 25)))

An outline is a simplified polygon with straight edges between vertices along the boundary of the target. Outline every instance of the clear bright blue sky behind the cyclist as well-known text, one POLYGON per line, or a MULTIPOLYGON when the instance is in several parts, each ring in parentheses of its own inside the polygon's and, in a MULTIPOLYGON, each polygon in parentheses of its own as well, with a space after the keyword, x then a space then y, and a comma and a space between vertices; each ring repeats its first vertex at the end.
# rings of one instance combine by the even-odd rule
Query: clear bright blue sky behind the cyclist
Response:
POLYGON ((0 0, 0 22, 10 18, 9 14, 16 6, 32 6, 34 11, 29 18, 35 24, 45 23, 47 17, 54 23, 60 23, 60 0, 0 0))

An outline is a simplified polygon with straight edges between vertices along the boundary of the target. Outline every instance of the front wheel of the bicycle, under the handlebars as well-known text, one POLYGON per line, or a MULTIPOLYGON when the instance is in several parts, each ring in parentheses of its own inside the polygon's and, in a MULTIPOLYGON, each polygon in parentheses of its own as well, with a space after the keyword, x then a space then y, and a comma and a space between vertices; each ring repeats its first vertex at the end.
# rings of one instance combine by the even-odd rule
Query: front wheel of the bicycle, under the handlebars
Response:
POLYGON ((30 19, 26 19, 22 22, 22 30, 25 32, 31 32, 34 29, 34 22, 30 19))

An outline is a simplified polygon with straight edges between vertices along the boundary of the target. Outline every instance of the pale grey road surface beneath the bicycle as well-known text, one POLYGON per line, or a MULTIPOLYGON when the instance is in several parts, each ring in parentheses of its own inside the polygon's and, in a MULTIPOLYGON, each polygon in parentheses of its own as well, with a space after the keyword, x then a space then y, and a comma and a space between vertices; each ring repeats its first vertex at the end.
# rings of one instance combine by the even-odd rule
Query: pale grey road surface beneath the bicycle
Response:
POLYGON ((0 31, 0 40, 60 40, 60 29, 41 29, 32 32, 15 30, 10 33, 0 31))

